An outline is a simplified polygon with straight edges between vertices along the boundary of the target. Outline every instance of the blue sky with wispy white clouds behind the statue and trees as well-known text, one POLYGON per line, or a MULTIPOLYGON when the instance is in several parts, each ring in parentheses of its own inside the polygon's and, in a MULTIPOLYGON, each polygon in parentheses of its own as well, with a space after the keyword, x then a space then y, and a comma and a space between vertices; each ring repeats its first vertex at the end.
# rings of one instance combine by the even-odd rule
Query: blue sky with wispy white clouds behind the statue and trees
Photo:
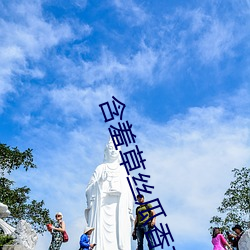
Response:
POLYGON ((209 220, 250 158, 250 1, 65 2, 0 1, 0 141, 38 165, 11 178, 63 212, 62 250, 77 249, 108 140, 98 105, 115 96, 176 249, 211 249, 209 220))

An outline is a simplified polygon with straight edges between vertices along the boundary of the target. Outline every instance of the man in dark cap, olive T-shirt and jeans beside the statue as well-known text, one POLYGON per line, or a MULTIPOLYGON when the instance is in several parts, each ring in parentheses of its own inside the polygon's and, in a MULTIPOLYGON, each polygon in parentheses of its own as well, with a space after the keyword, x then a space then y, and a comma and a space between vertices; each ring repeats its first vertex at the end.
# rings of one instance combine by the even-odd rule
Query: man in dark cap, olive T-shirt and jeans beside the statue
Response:
MULTIPOLYGON (((145 218, 143 218, 141 216, 141 213, 145 213, 144 211, 145 210, 148 210, 148 209, 151 209, 152 208, 152 205, 150 203, 147 203, 147 204, 144 204, 144 196, 143 195, 137 195, 137 201, 141 204, 140 206, 138 206, 136 208, 136 217, 135 217, 135 222, 134 222, 134 231, 133 231, 133 236, 136 235, 137 237, 137 243, 138 243, 138 247, 137 249, 138 250, 143 250, 143 240, 144 240, 144 235, 150 231, 150 227, 154 227, 155 225, 155 217, 151 220, 150 222, 150 225, 149 224, 146 224, 144 225, 144 223, 150 218, 150 217, 153 217, 155 215, 155 211, 152 209, 152 210, 149 210, 147 211, 147 215, 145 218)), ((151 234, 148 234, 148 249, 149 250, 154 250, 155 248, 154 247, 151 247, 150 248, 150 245, 153 246, 153 239, 152 239, 152 236, 151 234)))

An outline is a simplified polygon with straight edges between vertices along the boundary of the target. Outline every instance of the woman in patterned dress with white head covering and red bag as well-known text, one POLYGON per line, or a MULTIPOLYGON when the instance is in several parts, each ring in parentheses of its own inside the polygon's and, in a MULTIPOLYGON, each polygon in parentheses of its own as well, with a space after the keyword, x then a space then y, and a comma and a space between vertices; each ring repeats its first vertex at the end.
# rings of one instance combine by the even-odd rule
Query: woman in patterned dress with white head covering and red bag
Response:
POLYGON ((61 212, 56 213, 56 223, 50 227, 50 233, 52 234, 52 240, 49 250, 60 250, 63 242, 63 232, 66 230, 65 222, 62 220, 63 215, 61 212))

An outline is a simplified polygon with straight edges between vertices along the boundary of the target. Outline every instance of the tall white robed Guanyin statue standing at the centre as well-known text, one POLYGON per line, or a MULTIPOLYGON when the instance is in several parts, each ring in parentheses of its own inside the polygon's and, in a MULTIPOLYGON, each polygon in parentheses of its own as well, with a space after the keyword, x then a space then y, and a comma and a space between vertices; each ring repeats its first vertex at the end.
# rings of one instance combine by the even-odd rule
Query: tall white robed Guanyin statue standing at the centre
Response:
POLYGON ((94 227, 91 242, 95 250, 131 250, 133 196, 118 150, 110 139, 104 163, 97 166, 86 189, 88 226, 94 227))

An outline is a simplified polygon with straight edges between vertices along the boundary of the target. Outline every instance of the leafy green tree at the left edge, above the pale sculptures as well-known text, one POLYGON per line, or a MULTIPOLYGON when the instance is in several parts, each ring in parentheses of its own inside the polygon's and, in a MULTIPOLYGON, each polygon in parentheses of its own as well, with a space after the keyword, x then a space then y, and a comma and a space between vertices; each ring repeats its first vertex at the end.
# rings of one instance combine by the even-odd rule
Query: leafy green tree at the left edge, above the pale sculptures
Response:
POLYGON ((30 200, 30 188, 24 186, 14 188, 14 182, 7 179, 12 171, 19 168, 36 168, 33 163, 32 150, 21 152, 18 148, 10 148, 0 143, 0 202, 6 204, 11 211, 11 216, 5 220, 15 226, 21 219, 29 222, 38 233, 43 233, 45 224, 52 219, 49 210, 44 208, 44 201, 30 200))

